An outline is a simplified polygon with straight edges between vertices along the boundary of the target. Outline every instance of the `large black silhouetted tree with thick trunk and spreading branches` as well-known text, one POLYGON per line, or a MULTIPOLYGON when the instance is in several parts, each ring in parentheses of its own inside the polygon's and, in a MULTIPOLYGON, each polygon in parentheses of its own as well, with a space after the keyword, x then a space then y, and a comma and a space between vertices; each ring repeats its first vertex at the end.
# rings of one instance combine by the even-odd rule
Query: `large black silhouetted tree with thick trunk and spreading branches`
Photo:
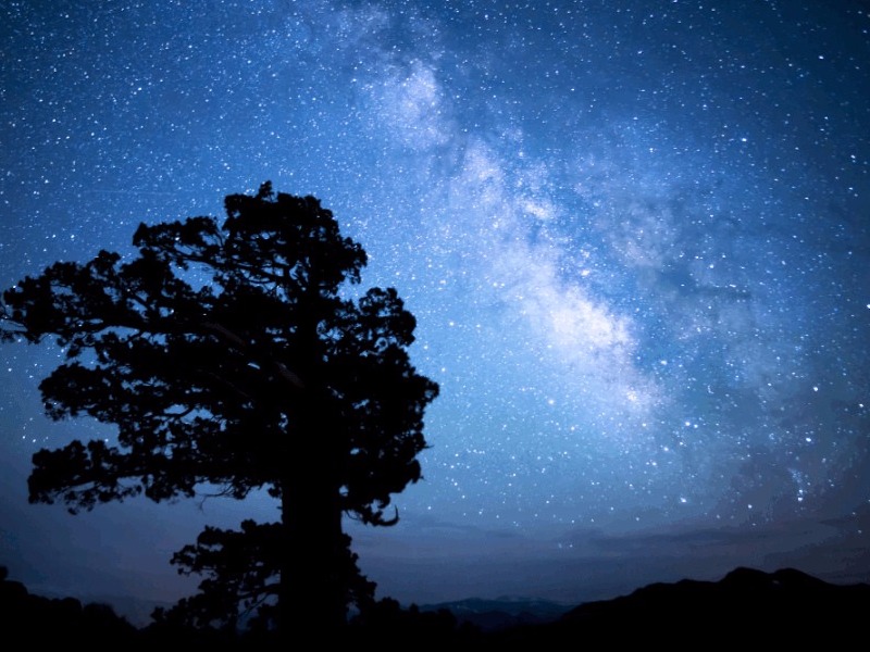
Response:
POLYGON ((213 217, 140 225, 138 255, 55 263, 3 293, 0 338, 57 338, 40 384, 54 419, 117 426, 115 443, 34 455, 30 502, 71 512, 211 487, 279 501, 273 524, 207 528, 173 559, 207 576, 178 613, 232 622, 277 613, 285 630, 333 628, 371 591, 343 514, 390 525, 390 494, 421 477, 423 415, 437 385, 410 363, 414 317, 393 288, 356 299, 366 256, 312 198, 225 200, 213 217))

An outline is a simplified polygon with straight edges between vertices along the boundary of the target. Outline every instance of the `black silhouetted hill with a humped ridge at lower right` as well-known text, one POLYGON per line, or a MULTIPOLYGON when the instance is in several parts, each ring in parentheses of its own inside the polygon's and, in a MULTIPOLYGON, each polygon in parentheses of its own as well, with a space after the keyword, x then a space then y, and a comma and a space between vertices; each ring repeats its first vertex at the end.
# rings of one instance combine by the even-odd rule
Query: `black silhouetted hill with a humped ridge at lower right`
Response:
POLYGON ((793 568, 737 568, 719 581, 654 584, 629 595, 589 602, 557 623, 520 627, 500 641, 659 641, 681 647, 846 643, 866 636, 870 585, 832 585, 793 568))

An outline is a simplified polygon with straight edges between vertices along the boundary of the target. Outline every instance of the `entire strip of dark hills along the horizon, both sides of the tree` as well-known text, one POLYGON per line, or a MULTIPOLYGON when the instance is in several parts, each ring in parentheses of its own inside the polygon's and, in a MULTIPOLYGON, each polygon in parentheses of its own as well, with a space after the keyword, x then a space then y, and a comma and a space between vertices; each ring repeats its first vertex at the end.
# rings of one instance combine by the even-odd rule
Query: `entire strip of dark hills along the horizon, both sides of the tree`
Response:
MULTIPOLYGON (((796 649, 860 648, 870 614, 870 585, 832 585, 799 570, 737 568, 719 581, 654 584, 629 595, 589 602, 564 613, 547 601, 463 600, 402 610, 384 599, 347 629, 348 641, 382 650, 408 641, 456 650, 616 649, 623 643, 668 649, 732 649, 771 644, 796 649), (545 620, 548 620, 545 623, 545 620), (463 625, 463 623, 471 624, 463 625)), ((265 649, 271 635, 237 636, 171 623, 136 629, 103 604, 32 595, 0 567, 0 623, 7 637, 48 642, 265 649)), ((67 645, 69 647, 69 645, 67 645)), ((434 648, 433 648, 434 649, 434 648)))

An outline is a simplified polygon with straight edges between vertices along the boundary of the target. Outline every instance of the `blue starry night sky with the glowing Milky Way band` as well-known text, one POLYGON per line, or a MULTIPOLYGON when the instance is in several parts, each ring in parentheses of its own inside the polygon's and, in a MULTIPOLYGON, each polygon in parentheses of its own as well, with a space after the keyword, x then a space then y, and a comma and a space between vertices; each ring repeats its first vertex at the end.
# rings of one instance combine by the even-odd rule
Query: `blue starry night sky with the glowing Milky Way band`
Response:
MULTIPOLYGON (((870 580, 870 5, 0 2, 0 286, 314 195, 418 317, 424 480, 380 595, 566 603, 736 565, 870 580)), ((175 600, 264 497, 28 505, 51 344, 0 348, 0 564, 175 600)), ((122 609, 123 611, 123 609, 122 609)))

